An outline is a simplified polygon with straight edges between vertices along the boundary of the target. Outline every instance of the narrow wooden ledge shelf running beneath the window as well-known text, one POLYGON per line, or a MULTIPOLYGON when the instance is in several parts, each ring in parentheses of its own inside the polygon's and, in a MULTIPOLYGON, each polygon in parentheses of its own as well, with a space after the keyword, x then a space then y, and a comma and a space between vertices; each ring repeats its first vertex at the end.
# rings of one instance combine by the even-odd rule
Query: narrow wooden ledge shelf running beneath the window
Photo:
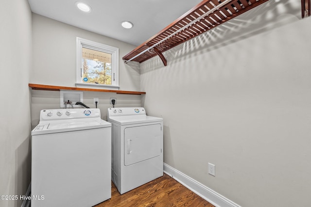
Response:
POLYGON ((76 88, 76 87, 65 87, 65 86, 54 86, 54 85, 40 85, 29 83, 28 86, 33 90, 44 90, 44 91, 95 91, 95 92, 107 92, 107 93, 117 93, 117 94, 127 94, 127 95, 142 95, 146 92, 138 91, 119 91, 119 90, 105 90, 105 89, 93 89, 93 88, 76 88))

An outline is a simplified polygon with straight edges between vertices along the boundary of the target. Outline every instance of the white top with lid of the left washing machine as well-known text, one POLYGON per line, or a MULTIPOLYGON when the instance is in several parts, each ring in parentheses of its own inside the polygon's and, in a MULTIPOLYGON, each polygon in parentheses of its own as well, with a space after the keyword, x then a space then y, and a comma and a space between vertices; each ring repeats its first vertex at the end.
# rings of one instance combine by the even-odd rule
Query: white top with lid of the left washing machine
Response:
POLYGON ((111 124, 102 119, 72 119, 68 121, 40 122, 32 130, 31 135, 50 134, 103 127, 111 127, 111 124))

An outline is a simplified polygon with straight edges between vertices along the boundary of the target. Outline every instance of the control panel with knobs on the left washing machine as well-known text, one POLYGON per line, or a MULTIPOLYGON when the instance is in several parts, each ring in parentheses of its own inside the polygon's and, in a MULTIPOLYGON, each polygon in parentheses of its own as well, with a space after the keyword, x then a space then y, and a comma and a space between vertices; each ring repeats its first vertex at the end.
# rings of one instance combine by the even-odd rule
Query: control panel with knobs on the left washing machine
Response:
POLYGON ((40 111, 40 121, 101 117, 99 109, 46 109, 40 111))

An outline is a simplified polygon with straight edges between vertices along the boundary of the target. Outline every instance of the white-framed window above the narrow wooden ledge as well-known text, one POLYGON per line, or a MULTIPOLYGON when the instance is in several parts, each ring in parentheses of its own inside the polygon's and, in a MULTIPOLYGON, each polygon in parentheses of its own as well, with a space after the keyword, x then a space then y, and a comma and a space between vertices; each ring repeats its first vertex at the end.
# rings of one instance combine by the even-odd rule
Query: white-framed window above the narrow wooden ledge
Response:
POLYGON ((77 37, 76 85, 119 88, 119 48, 77 37))

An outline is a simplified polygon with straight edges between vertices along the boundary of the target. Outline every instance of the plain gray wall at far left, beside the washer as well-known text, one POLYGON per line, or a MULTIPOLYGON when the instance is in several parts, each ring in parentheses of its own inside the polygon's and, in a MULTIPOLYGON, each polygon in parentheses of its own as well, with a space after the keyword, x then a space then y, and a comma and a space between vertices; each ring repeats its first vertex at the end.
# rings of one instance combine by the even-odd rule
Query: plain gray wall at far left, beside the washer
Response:
MULTIPOLYGON (((30 184, 30 96, 32 36, 27 0, 0 6, 0 195, 22 195, 30 184)), ((0 200, 1 207, 22 201, 0 200)))

